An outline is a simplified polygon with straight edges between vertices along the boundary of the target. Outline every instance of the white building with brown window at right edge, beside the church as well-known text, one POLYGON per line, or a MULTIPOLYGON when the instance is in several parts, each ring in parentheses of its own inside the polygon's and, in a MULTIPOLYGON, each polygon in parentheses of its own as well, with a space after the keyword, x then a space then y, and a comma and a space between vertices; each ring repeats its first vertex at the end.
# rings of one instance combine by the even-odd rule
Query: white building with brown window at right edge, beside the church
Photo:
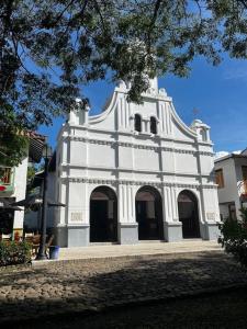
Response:
POLYGON ((221 217, 239 218, 239 209, 247 206, 247 150, 221 157, 214 163, 221 217))

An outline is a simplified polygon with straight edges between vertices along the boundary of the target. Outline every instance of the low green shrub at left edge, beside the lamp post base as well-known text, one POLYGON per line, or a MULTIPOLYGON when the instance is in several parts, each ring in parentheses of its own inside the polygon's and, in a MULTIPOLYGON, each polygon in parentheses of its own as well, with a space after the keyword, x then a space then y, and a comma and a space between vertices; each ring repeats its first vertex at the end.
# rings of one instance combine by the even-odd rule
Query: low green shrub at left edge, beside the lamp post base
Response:
POLYGON ((0 241, 0 266, 31 263, 31 246, 22 241, 0 241))

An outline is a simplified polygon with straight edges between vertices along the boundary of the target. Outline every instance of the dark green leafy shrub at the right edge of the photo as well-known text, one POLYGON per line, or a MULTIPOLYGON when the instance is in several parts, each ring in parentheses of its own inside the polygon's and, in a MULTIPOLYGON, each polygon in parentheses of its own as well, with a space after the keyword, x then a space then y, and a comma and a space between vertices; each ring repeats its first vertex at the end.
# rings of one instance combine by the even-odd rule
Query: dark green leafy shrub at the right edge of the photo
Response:
POLYGON ((226 218, 220 224, 218 243, 247 268, 247 208, 242 208, 240 213, 240 220, 226 218))

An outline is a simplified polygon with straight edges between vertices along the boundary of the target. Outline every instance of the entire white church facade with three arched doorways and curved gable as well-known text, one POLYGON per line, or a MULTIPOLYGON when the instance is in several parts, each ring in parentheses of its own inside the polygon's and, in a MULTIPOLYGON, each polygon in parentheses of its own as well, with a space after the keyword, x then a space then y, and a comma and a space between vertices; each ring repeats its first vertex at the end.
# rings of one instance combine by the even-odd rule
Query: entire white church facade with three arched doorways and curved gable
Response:
POLYGON ((59 132, 56 232, 61 247, 90 242, 216 239, 220 222, 210 127, 188 127, 150 81, 143 103, 121 82, 101 114, 80 102, 59 132))

